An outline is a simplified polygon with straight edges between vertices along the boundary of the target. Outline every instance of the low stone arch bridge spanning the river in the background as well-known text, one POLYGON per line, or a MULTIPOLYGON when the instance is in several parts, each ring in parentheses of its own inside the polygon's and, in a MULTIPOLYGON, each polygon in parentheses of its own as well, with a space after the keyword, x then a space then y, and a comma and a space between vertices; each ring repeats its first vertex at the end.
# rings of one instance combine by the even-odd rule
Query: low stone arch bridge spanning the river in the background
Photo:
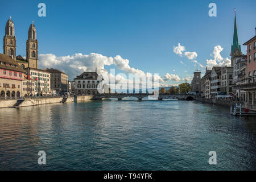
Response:
MULTIPOLYGON (((154 96, 154 94, 148 93, 105 93, 105 94, 96 94, 96 100, 102 100, 102 98, 117 98, 118 101, 121 101, 125 97, 136 97, 139 101, 144 97, 154 96)), ((159 94, 158 100, 163 100, 163 98, 177 98, 178 100, 195 100, 195 95, 190 94, 159 94)))

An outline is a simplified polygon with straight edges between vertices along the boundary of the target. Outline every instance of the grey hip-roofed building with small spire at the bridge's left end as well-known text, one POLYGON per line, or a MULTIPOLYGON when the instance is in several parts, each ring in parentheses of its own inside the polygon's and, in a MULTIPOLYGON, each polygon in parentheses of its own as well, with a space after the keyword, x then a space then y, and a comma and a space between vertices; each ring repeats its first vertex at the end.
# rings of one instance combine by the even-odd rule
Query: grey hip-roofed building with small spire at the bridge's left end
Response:
POLYGON ((84 72, 74 78, 75 93, 77 95, 88 94, 94 95, 103 92, 103 79, 97 72, 84 72))

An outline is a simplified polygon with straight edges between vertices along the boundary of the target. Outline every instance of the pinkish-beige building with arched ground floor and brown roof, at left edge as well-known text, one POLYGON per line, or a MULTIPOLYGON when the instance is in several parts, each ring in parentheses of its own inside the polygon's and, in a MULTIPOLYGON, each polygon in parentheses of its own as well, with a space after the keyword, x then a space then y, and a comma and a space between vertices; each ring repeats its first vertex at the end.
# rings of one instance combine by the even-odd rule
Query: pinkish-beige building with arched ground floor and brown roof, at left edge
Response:
POLYGON ((21 97, 24 70, 9 55, 0 53, 0 97, 21 97))

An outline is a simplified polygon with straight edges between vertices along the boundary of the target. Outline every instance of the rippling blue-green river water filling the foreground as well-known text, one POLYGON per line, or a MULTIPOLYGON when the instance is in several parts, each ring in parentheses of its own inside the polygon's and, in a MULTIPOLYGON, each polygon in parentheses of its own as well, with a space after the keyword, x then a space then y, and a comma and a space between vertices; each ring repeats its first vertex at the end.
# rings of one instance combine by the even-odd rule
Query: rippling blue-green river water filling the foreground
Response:
POLYGON ((255 170, 255 151, 255 117, 197 101, 0 109, 1 170, 255 170), (41 150, 46 165, 38 164, 41 150))

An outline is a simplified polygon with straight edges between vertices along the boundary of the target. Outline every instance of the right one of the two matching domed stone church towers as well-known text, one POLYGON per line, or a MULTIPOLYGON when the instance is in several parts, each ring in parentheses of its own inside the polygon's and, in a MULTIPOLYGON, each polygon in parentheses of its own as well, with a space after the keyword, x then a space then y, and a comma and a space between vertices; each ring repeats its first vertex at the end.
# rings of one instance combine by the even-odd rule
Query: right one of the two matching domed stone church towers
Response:
POLYGON ((33 23, 34 22, 32 22, 28 29, 26 59, 28 61, 28 67, 38 68, 38 39, 36 39, 36 29, 33 23))

